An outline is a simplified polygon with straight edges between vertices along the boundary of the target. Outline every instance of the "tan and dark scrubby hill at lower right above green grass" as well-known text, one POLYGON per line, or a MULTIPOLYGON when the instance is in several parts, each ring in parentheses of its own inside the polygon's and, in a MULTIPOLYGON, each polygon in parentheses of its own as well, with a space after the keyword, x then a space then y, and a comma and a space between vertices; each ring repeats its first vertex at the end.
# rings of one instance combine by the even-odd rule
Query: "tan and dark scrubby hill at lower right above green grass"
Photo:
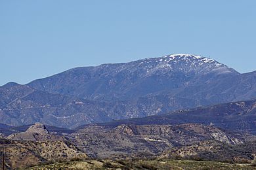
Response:
POLYGON ((230 145, 219 141, 202 141, 190 146, 170 148, 161 158, 200 158, 201 160, 250 162, 256 157, 255 141, 230 145))

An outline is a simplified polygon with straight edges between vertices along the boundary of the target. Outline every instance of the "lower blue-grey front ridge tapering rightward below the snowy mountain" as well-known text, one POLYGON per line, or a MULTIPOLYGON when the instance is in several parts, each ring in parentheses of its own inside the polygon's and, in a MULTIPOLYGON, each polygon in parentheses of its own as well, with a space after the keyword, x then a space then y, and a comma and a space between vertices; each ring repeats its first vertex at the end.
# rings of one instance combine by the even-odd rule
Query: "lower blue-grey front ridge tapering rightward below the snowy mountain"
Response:
MULTIPOLYGON (((74 128, 83 124, 108 122, 113 119, 137 118, 161 114, 169 110, 193 107, 179 98, 175 105, 166 102, 177 99, 148 97, 136 101, 89 101, 78 97, 35 90, 26 85, 0 87, 0 123, 23 126, 42 122, 50 126, 74 128)), ((6 129, 6 128, 3 128, 6 129)), ((9 132, 8 132, 9 133, 9 132)))

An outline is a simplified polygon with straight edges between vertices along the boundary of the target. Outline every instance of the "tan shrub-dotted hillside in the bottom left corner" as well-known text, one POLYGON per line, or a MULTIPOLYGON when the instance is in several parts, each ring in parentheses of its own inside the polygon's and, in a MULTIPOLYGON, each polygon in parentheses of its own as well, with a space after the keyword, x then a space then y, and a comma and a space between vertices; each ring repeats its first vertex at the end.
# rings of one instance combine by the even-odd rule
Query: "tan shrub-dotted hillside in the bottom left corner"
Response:
MULTIPOLYGON (((69 141, 13 141, 2 139, 0 152, 5 148, 5 169, 24 169, 51 161, 88 158, 69 141)), ((2 156, 2 154, 1 154, 2 156)), ((2 166, 2 161, 0 163, 2 166)))

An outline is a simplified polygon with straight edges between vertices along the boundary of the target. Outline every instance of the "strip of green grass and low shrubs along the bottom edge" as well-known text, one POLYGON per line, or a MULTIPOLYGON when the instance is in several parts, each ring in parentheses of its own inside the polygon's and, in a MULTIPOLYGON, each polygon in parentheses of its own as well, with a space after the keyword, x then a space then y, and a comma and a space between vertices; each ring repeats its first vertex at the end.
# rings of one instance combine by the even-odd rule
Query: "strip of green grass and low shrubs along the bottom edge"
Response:
POLYGON ((29 169, 255 169, 255 164, 192 160, 86 160, 54 163, 29 169))

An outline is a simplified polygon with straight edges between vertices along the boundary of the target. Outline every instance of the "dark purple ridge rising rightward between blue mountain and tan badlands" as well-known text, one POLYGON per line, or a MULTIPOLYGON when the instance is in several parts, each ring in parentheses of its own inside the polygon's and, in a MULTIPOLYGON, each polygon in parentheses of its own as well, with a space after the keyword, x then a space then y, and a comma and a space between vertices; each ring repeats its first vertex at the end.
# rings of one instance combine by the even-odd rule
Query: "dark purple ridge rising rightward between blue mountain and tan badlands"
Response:
MULTIPOLYGON (((117 127, 121 124, 205 124, 229 129, 232 131, 247 132, 256 135, 256 99, 223 103, 210 107, 176 110, 166 114, 116 120, 98 124, 98 126, 117 127)), ((78 127, 78 129, 86 126, 78 127)))

